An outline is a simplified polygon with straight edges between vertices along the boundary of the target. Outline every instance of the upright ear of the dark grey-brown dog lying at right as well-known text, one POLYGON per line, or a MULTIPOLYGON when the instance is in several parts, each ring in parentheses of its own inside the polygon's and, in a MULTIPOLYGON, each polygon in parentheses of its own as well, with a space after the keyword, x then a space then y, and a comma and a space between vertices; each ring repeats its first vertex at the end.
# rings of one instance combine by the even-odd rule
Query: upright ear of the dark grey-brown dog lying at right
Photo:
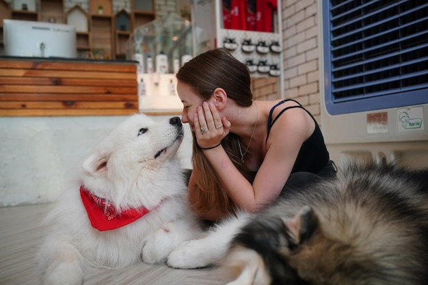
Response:
POLYGON ((284 219, 284 224, 295 245, 308 241, 318 228, 318 218, 310 206, 304 206, 293 219, 284 219))

